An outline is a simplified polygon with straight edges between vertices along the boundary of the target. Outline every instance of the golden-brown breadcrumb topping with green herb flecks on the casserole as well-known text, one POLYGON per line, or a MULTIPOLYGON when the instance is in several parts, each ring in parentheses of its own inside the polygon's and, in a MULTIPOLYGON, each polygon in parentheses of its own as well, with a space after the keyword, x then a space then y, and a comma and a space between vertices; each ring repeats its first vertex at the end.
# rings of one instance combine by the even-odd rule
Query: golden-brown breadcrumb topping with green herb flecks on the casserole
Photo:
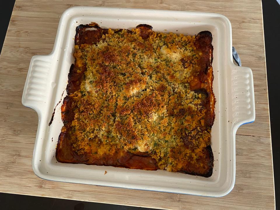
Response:
POLYGON ((194 42, 183 34, 152 32, 143 40, 139 29, 109 29, 95 45, 76 45, 75 65, 86 71, 70 95, 74 151, 122 148, 148 154, 169 171, 201 157, 211 128, 204 126, 203 94, 190 90, 198 74, 194 42))

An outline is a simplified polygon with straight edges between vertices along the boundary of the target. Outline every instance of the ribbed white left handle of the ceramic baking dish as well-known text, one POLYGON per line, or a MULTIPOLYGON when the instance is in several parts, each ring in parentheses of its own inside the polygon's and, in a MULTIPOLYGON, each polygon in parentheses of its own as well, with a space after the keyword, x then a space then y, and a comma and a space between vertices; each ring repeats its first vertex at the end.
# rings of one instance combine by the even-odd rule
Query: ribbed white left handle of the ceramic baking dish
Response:
POLYGON ((32 57, 25 81, 22 104, 34 109, 37 113, 46 106, 50 79, 52 55, 35 55, 32 57))

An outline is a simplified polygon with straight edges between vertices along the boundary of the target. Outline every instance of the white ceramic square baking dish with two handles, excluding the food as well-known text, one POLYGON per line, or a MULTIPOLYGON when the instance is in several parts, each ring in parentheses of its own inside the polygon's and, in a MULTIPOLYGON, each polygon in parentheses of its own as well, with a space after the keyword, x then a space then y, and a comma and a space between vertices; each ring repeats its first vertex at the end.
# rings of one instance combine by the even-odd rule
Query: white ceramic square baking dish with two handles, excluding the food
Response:
POLYGON ((255 119, 252 71, 232 62, 230 21, 223 15, 199 12, 101 7, 66 10, 60 19, 53 52, 31 59, 22 104, 38 113, 32 165, 35 174, 43 179, 214 197, 226 195, 232 190, 235 180, 235 134, 240 125, 255 119), (66 95, 67 75, 74 62, 75 28, 90 22, 97 22, 103 28, 125 29, 145 23, 152 25, 155 31, 190 35, 211 31, 214 47, 213 90, 217 100, 211 134, 215 159, 211 177, 56 161, 55 149, 62 128, 61 99, 66 95), (55 107, 53 123, 48 126, 55 107))

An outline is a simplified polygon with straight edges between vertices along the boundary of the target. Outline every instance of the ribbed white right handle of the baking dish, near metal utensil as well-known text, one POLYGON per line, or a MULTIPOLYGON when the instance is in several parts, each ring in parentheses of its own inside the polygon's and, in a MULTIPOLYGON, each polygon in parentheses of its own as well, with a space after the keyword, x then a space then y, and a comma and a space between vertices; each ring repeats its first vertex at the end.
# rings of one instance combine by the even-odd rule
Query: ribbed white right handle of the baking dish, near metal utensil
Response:
POLYGON ((232 117, 238 127, 255 120, 253 73, 248 67, 232 68, 232 117))

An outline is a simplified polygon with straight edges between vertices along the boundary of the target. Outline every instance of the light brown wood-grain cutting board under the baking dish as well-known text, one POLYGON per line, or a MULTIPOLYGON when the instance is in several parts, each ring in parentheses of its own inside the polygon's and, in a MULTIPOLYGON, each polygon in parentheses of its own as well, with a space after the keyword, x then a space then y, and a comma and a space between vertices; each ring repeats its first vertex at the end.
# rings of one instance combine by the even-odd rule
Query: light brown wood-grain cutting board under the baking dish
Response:
POLYGON ((261 0, 17 0, 0 56, 0 191, 162 209, 274 209, 274 180, 261 0), (221 198, 127 190, 42 180, 31 160, 38 125, 22 106, 33 55, 49 54, 59 18, 72 6, 109 6, 215 12, 232 23, 233 46, 253 70, 256 120, 236 136, 236 182, 221 198))

